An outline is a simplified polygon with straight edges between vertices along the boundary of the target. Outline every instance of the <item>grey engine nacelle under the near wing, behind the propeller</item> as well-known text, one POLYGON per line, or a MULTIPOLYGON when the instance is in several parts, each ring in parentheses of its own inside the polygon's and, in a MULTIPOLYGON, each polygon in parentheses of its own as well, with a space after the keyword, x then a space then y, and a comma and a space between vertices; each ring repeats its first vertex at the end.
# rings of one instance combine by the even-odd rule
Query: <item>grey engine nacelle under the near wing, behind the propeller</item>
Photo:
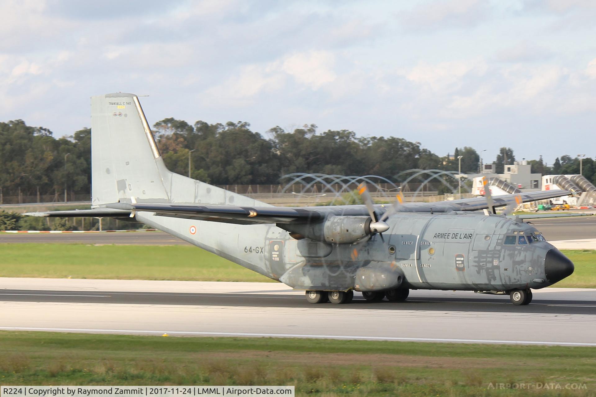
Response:
POLYGON ((370 235, 371 217, 340 216, 328 217, 324 222, 302 224, 278 224, 291 232, 295 239, 306 238, 331 244, 352 244, 370 235))

